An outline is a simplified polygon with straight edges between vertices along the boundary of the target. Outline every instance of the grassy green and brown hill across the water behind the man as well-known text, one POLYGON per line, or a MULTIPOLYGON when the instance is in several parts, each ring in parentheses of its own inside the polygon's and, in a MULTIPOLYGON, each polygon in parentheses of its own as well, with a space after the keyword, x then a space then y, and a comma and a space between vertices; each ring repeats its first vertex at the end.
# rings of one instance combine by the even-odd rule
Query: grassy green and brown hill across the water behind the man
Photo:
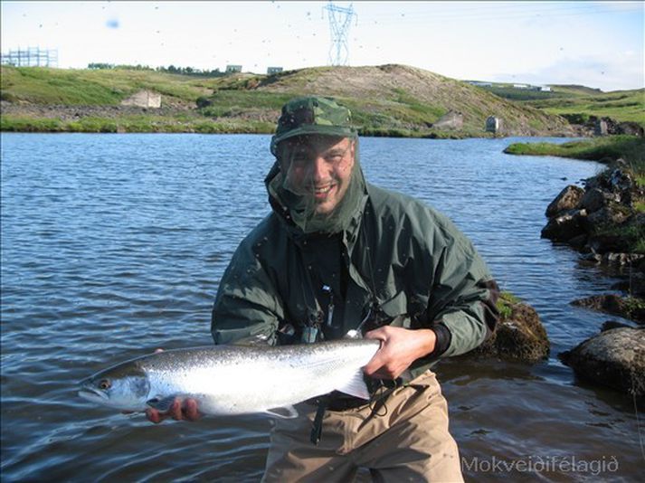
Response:
POLYGON ((568 129, 559 116, 403 65, 318 67, 216 78, 3 66, 1 78, 2 130, 270 133, 285 100, 308 93, 344 102, 363 135, 483 136, 490 115, 503 119, 509 135, 566 134, 568 129), (120 106, 138 90, 161 94, 162 108, 120 106), (463 115, 463 127, 433 128, 449 111, 463 115))

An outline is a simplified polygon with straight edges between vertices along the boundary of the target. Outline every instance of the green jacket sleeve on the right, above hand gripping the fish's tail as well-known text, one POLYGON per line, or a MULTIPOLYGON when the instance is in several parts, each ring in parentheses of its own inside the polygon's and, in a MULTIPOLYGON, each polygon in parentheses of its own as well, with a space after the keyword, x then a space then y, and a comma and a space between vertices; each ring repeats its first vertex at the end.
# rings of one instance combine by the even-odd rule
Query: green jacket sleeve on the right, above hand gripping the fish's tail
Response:
POLYGON ((437 334, 431 359, 469 352, 479 346, 498 322, 499 289, 472 243, 449 221, 442 243, 432 253, 432 288, 427 320, 437 334))

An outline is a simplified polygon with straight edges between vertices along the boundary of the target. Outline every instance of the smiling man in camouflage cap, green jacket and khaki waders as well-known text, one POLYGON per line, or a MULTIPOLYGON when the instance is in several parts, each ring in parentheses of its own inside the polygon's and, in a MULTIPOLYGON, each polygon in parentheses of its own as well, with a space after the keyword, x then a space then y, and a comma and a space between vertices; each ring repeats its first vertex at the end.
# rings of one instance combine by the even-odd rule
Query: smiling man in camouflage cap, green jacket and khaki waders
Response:
MULTIPOLYGON (((275 422, 264 479, 345 481, 363 467, 379 481, 460 481, 429 367, 494 329, 498 288, 485 263, 440 213, 365 182, 350 111, 333 99, 289 101, 270 150, 272 213, 223 275, 215 344, 314 343, 358 330, 381 348, 364 369, 371 402, 332 393, 275 422)), ((173 415, 197 410, 177 404, 173 415)))

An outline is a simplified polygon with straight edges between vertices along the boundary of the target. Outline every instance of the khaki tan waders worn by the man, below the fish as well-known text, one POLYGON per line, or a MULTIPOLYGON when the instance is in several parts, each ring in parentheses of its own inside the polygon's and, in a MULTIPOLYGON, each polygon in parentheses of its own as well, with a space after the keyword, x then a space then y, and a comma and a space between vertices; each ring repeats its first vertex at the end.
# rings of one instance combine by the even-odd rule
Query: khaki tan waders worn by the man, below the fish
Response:
POLYGON ((316 406, 300 403, 299 417, 275 421, 262 481, 345 483, 359 468, 377 482, 463 481, 448 404, 431 371, 372 408, 327 410, 315 446, 309 435, 316 406))

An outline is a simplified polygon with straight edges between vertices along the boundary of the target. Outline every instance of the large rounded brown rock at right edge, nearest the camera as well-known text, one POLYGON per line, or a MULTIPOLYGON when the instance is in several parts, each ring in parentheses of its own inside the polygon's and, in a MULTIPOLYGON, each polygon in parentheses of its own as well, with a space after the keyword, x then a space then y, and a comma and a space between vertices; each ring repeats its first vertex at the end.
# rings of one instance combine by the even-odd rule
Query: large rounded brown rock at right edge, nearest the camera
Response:
POLYGON ((560 354, 575 374, 636 396, 645 396, 645 329, 619 327, 560 354))

